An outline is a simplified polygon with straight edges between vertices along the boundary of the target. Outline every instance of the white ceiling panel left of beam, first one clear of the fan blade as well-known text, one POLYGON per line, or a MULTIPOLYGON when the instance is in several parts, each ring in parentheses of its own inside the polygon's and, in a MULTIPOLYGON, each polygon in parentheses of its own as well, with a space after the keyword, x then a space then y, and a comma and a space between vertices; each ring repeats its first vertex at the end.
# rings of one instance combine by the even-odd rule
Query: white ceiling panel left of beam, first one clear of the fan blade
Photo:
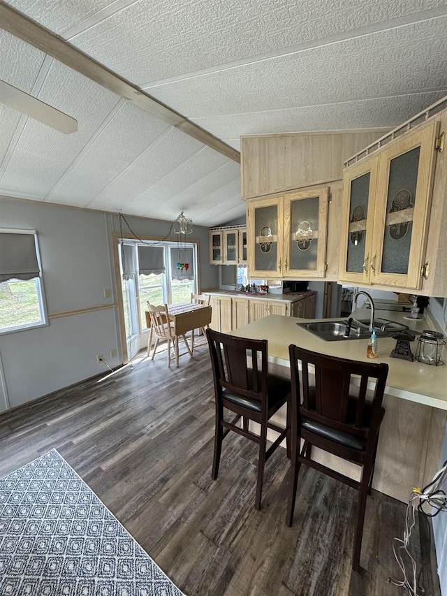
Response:
POLYGON ((58 202, 77 201, 87 206, 92 196, 112 184, 168 128, 166 122, 138 106, 119 104, 117 112, 47 194, 47 200, 57 198, 58 202))

